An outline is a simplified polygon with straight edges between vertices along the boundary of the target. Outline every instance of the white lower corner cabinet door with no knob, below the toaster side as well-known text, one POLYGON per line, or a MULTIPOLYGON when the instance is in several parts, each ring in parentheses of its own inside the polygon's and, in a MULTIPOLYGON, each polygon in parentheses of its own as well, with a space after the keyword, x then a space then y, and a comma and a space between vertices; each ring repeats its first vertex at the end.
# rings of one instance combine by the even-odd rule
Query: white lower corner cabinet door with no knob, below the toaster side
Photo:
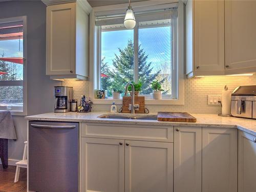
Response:
POLYGON ((203 127, 202 191, 237 191, 238 130, 203 127))

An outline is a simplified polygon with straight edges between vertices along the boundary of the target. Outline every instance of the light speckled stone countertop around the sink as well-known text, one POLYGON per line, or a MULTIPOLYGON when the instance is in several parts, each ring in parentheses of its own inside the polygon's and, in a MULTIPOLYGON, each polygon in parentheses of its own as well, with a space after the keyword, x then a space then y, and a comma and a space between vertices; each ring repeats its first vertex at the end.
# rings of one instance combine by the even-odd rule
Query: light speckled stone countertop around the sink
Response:
MULTIPOLYGON (((203 127, 225 127, 237 128, 256 136, 256 120, 242 119, 236 117, 220 117, 212 114, 191 114, 197 118, 195 123, 187 122, 162 122, 157 120, 136 120, 136 119, 104 119, 98 116, 110 114, 108 112, 91 113, 44 113, 39 115, 27 116, 27 120, 44 121, 72 121, 72 122, 92 122, 92 123, 122 123, 122 124, 148 124, 148 125, 178 125, 178 126, 203 126, 203 127)), ((131 115, 131 114, 118 114, 131 115)), ((143 114, 144 115, 144 114, 143 114)), ((156 114, 148 114, 156 115, 156 114)), ((136 114, 139 116, 139 114, 136 114)))

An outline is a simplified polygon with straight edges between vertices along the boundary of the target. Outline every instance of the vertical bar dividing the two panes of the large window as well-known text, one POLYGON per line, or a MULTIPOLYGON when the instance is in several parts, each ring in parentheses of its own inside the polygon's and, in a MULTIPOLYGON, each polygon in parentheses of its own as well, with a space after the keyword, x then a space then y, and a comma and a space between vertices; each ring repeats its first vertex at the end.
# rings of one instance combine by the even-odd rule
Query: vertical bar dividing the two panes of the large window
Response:
POLYGON ((138 22, 134 28, 134 82, 137 83, 139 80, 139 26, 138 22))

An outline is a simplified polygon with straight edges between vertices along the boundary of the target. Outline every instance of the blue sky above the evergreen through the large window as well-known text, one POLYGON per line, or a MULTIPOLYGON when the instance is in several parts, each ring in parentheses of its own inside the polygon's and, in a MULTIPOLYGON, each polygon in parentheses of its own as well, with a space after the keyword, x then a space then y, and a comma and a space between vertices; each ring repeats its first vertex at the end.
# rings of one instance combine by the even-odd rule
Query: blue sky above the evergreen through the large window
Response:
MULTIPOLYGON (((101 35, 101 57, 105 57, 105 62, 112 67, 114 54, 119 53, 118 48, 125 48, 127 41, 133 40, 133 30, 102 32, 101 35)), ((139 44, 152 66, 170 62, 170 27, 139 29, 139 44)))

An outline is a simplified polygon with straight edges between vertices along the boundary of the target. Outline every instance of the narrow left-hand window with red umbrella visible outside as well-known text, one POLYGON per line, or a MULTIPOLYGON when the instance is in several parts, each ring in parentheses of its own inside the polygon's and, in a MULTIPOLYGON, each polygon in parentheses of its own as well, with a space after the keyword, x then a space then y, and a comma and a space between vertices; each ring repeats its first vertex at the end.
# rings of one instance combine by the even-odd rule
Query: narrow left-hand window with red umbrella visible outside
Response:
POLYGON ((26 17, 0 19, 0 110, 26 115, 26 17))

